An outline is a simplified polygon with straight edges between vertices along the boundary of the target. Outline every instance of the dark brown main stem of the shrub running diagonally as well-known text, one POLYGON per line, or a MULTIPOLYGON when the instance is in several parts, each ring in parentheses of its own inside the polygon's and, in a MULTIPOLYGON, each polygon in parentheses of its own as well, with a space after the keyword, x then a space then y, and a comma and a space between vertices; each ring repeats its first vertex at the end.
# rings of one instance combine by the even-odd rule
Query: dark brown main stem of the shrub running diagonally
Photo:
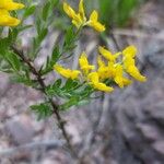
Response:
POLYGON ((74 148, 73 148, 73 145, 72 145, 72 143, 71 143, 70 137, 69 137, 69 134, 67 133, 66 126, 65 126, 65 125, 66 125, 66 121, 61 118, 61 115, 60 115, 60 113, 59 113, 58 105, 52 101, 52 98, 50 98, 49 96, 47 96, 47 93, 46 93, 46 84, 45 84, 45 82, 44 82, 44 80, 43 80, 43 77, 42 77, 40 72, 36 70, 36 68, 33 66, 33 63, 31 62, 31 60, 24 56, 24 54, 23 54, 22 50, 19 50, 19 49, 17 49, 16 47, 14 47, 14 46, 12 46, 11 48, 12 48, 12 50, 14 51, 14 54, 16 54, 16 55, 21 58, 21 60, 22 60, 25 65, 28 66, 31 72, 36 77, 37 82, 38 82, 39 85, 40 85, 40 90, 42 90, 43 94, 44 94, 46 97, 48 97, 48 101, 49 101, 49 103, 51 104, 52 113, 55 114, 55 116, 56 116, 56 118, 57 118, 57 121, 58 121, 58 124, 59 124, 59 128, 60 128, 61 131, 62 131, 62 136, 63 136, 65 140, 67 141, 68 148, 70 149, 72 156, 78 157, 78 154, 77 154, 77 152, 74 151, 74 148))

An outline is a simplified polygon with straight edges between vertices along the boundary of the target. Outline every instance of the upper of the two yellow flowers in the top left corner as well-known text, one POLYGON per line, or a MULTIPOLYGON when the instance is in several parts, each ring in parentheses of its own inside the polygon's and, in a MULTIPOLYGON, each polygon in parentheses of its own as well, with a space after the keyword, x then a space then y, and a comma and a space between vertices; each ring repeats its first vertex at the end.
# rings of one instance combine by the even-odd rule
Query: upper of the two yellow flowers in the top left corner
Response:
POLYGON ((17 10, 24 8, 24 4, 13 2, 12 0, 0 0, 0 9, 17 10))

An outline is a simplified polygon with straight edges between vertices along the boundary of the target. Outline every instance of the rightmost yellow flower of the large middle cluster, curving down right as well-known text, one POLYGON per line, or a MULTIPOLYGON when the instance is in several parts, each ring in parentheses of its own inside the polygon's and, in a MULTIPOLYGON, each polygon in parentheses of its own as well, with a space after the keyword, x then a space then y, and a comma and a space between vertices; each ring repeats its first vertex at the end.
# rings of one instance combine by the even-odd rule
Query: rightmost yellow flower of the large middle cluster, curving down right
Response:
POLYGON ((137 54, 137 49, 134 46, 127 47, 124 51, 124 67, 127 73, 129 73, 132 78, 140 82, 145 82, 147 78, 140 73, 134 63, 134 56, 137 54))

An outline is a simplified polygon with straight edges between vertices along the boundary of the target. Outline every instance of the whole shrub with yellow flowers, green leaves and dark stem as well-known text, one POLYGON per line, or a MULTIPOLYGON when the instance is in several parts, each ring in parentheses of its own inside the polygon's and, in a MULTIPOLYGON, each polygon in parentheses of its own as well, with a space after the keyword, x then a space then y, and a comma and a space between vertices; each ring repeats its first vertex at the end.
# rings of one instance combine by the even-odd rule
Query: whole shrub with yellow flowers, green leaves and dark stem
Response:
POLYGON ((60 110, 91 101, 91 95, 95 92, 113 92, 117 85, 124 87, 130 85, 133 80, 145 82, 147 79, 136 66, 137 48, 134 46, 128 46, 115 54, 99 46, 96 66, 87 60, 85 51, 79 58, 79 69, 71 70, 60 65, 63 55, 68 54, 70 57, 69 54, 75 48, 84 26, 101 33, 105 31, 105 25, 98 21, 97 11, 94 10, 90 17, 86 17, 83 0, 80 0, 78 12, 63 2, 63 11, 75 28, 68 27, 65 32, 63 44, 55 44, 50 57, 47 57, 39 69, 35 68, 34 61, 39 55, 42 43, 48 35, 49 27, 52 27, 51 11, 58 3, 58 0, 48 0, 39 5, 30 0, 24 5, 12 0, 0 1, 0 71, 10 73, 15 82, 34 87, 45 95, 43 103, 33 105, 31 108, 38 114, 39 119, 56 115, 63 137, 72 149, 60 110), (40 15, 35 15, 37 7, 42 12, 40 15), (19 9, 23 9, 20 14, 15 11, 19 9), (19 15, 20 19, 16 19, 19 15), (23 22, 31 15, 35 15, 34 24, 21 23, 21 20, 23 22), (31 27, 35 30, 36 35, 33 36, 32 47, 26 52, 22 48, 19 34, 31 27), (4 28, 8 31, 5 35, 4 28), (61 77, 55 79, 54 83, 46 84, 45 77, 51 71, 61 77), (56 97, 60 97, 61 101, 57 103, 56 97))

